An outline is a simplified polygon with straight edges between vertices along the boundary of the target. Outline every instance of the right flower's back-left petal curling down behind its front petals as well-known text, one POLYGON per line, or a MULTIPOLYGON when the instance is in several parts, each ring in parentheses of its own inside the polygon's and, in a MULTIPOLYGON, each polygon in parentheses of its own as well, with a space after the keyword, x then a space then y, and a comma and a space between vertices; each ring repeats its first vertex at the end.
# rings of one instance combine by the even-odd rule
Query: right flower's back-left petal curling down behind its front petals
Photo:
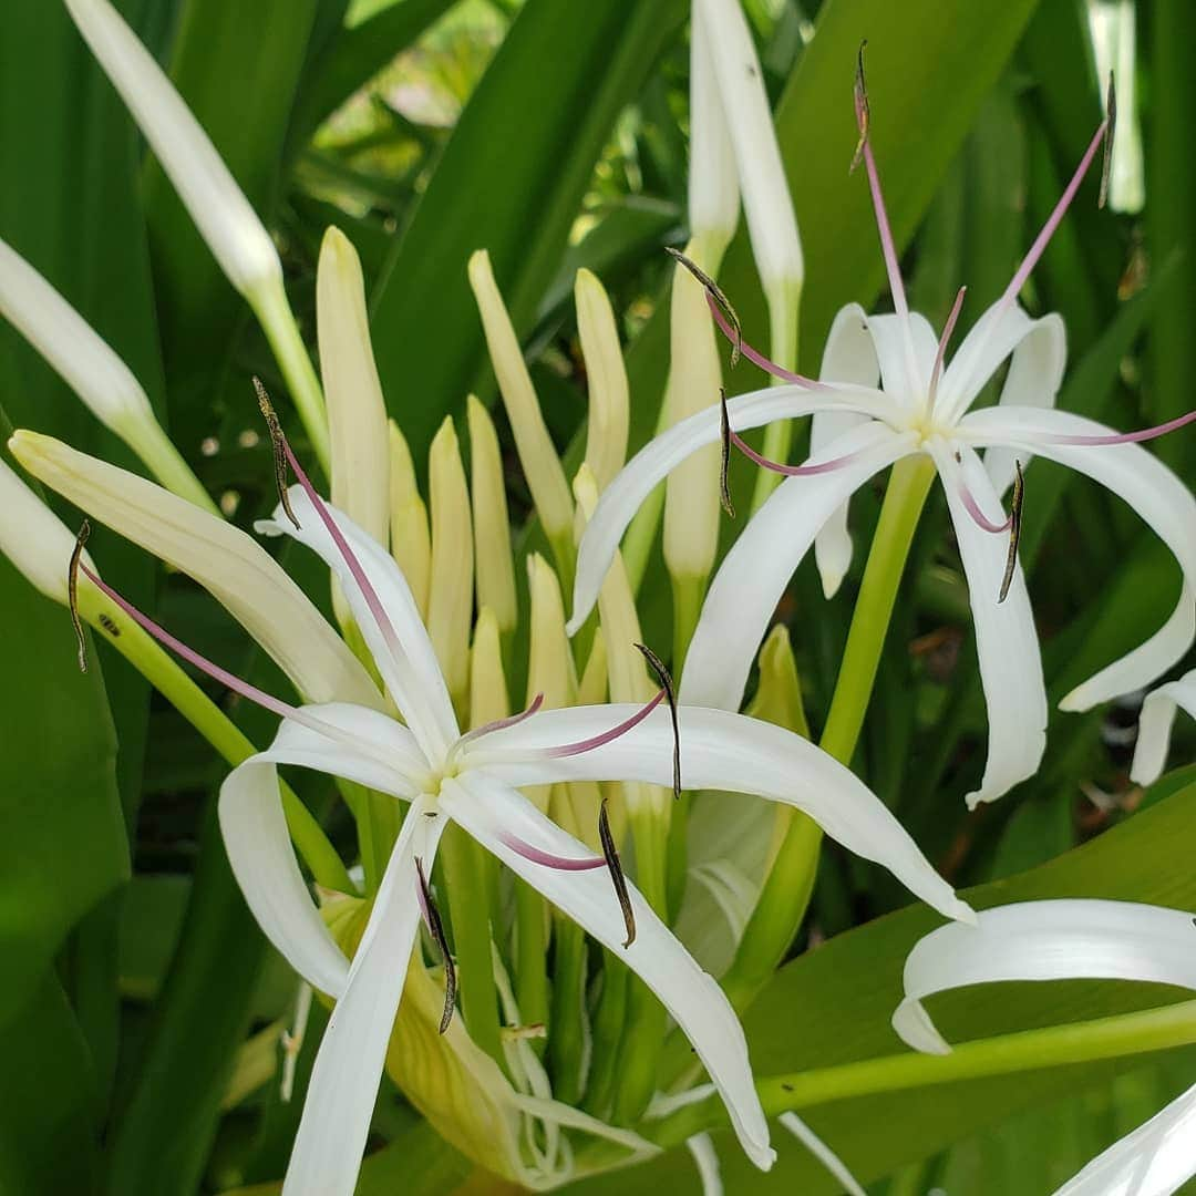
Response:
MULTIPOLYGON (((823 349, 823 382, 846 382, 874 388, 880 382, 877 349, 868 332, 867 312, 849 303, 835 316, 823 349)), ((849 432, 867 416, 856 411, 814 411, 810 421, 810 452, 820 453, 826 445, 849 432)), ((852 565, 852 533, 847 530, 849 504, 844 502, 823 524, 814 537, 814 562, 822 578, 823 593, 832 598, 852 565)))

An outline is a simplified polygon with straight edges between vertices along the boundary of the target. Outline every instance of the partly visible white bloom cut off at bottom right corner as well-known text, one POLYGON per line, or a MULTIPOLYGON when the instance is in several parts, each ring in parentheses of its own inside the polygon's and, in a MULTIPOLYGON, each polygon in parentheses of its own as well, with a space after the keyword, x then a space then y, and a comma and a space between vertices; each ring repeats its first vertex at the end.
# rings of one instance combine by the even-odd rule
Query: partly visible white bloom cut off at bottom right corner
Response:
MULTIPOLYGON (((893 1029, 915 1050, 951 1048, 922 1001, 996 981, 1130 980, 1196 991, 1192 915, 1135 902, 1032 901, 981 911, 975 926, 945 926, 905 960, 893 1029)), ((1196 1087, 1092 1160, 1056 1196, 1166 1196, 1196 1174, 1196 1087)))

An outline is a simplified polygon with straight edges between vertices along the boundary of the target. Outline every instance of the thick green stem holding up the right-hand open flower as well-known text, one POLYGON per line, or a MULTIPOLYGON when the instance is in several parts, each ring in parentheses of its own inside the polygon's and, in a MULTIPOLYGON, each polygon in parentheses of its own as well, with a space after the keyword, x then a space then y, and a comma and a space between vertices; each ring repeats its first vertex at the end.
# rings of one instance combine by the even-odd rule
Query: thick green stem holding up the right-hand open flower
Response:
MULTIPOLYGON (((897 587, 933 480, 934 466, 922 456, 899 460, 889 480, 820 744, 843 764, 850 762, 864 726, 897 587)), ((734 963, 722 980, 738 1009, 750 1005, 773 975, 801 925, 820 838, 810 819, 791 822, 734 963)))

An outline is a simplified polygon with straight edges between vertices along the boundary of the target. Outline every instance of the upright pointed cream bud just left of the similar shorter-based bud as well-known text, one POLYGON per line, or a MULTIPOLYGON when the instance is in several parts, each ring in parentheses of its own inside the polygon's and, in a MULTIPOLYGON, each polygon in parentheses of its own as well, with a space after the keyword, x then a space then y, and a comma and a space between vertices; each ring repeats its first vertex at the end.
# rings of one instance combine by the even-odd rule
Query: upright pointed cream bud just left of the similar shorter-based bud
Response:
POLYGON ((474 615, 474 531, 469 487, 452 416, 446 416, 428 453, 432 488, 432 578, 428 635, 458 710, 469 689, 469 629, 474 615))

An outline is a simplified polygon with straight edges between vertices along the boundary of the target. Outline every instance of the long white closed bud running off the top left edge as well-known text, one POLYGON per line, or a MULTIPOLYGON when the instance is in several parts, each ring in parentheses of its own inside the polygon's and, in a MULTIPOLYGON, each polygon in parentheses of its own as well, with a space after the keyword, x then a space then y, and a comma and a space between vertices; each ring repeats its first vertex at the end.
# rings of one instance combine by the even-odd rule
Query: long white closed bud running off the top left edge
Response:
POLYGON ((263 280, 281 281, 270 234, 153 55, 108 0, 66 6, 228 281, 242 293, 263 280))

